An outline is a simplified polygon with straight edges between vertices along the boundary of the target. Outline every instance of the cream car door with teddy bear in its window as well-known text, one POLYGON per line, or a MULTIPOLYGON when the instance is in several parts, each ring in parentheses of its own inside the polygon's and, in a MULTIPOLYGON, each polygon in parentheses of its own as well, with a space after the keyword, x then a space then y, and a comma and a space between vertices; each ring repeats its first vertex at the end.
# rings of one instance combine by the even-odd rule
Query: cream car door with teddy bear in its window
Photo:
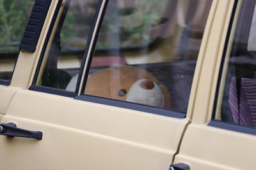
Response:
MULTIPOLYGON (((26 43, 26 29, 6 87, 20 89, 1 119, 7 134, 0 136, 1 169, 168 169, 191 119, 216 1, 205 8, 199 0, 47 2, 37 41, 26 43), (162 102, 87 90, 94 73, 114 67, 97 80, 119 83, 118 96, 125 96, 130 91, 122 88, 120 68, 129 67, 137 74, 124 75, 152 78, 162 102), (22 129, 42 139, 20 138, 22 129)), ((42 3, 36 0, 32 11, 40 12, 42 3)), ((27 28, 35 20, 31 15, 27 28)))

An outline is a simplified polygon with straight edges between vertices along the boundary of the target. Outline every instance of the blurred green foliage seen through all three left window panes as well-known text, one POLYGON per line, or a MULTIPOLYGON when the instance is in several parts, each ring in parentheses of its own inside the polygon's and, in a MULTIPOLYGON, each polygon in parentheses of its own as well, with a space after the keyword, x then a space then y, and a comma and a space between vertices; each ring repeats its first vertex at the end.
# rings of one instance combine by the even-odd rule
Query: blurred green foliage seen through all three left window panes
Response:
MULTIPOLYGON (((34 1, 0 0, 0 51, 6 48, 10 50, 14 46, 17 48, 34 1)), ((70 46, 84 48, 86 44, 98 1, 87 0, 84 6, 79 6, 80 1, 82 2, 82 0, 71 1, 76 5, 68 10, 61 29, 63 50, 70 46)), ((161 17, 166 3, 168 0, 162 0, 161 3, 158 0, 109 1, 97 47, 136 46, 150 43, 154 40, 150 37, 152 27, 168 20, 161 17)))

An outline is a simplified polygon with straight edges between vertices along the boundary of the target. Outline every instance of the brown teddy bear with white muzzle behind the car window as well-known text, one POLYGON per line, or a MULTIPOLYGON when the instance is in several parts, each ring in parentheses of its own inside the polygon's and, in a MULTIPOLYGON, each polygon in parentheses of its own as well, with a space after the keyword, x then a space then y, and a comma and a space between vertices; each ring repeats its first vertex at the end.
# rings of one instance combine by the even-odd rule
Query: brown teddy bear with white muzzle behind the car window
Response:
MULTIPOLYGON (((66 90, 74 90, 77 75, 66 90)), ((105 97, 159 108, 170 108, 170 93, 157 78, 145 69, 113 65, 88 76, 84 94, 105 97)))

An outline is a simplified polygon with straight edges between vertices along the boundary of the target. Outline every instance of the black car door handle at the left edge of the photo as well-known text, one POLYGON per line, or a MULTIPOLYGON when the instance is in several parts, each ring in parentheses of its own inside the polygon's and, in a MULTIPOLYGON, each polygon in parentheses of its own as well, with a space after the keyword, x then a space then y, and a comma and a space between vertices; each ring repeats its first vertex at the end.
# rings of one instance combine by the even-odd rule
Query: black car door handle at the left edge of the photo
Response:
POLYGON ((13 138, 15 136, 22 138, 42 139, 43 133, 40 131, 28 131, 26 129, 17 128, 13 123, 0 124, 0 134, 13 138))

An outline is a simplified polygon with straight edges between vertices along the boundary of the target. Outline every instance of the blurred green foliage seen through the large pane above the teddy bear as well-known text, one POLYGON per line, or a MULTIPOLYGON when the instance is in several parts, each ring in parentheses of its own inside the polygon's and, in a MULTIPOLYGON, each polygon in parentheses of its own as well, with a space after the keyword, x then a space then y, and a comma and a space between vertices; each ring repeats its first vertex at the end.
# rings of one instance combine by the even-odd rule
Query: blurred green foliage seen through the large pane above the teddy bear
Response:
POLYGON ((168 0, 109 1, 97 48, 141 46, 154 41, 150 31, 168 20, 168 0))

